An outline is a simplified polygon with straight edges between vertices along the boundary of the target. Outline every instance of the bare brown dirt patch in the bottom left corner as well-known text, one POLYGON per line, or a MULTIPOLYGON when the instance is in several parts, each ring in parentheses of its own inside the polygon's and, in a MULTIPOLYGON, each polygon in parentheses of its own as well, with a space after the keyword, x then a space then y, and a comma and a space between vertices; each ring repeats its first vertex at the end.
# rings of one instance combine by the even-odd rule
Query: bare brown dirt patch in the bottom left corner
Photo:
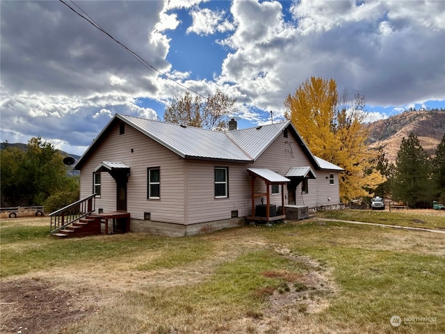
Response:
POLYGON ((1 282, 1 333, 52 333, 94 309, 80 292, 52 289, 38 279, 1 282), (85 305, 84 305, 85 304, 85 305))

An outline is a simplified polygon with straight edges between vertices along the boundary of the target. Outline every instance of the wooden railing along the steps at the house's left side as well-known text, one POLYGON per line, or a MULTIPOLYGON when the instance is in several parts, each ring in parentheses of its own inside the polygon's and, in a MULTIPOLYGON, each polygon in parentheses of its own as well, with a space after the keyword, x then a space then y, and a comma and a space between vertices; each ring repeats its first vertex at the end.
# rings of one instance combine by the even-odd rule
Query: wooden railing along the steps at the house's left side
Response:
POLYGON ((65 226, 79 221, 79 219, 88 216, 96 209, 96 194, 83 198, 83 200, 78 200, 62 209, 58 209, 55 212, 51 212, 49 216, 51 217, 51 233, 55 233, 65 226))

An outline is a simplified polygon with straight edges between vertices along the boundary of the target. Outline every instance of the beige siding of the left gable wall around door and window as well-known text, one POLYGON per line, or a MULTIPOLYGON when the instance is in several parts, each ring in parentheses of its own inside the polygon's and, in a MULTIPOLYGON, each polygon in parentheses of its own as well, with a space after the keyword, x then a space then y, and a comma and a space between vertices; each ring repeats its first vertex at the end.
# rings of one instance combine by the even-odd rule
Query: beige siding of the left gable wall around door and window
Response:
MULTIPOLYGON (((124 134, 119 134, 116 122, 81 168, 81 198, 92 193, 92 173, 102 161, 118 161, 130 167, 127 212, 131 213, 131 218, 143 219, 144 212, 149 212, 153 221, 184 223, 184 160, 177 154, 128 125, 124 134), (160 168, 159 200, 147 200, 149 167, 160 168)), ((102 191, 96 207, 104 209, 104 212, 115 211, 115 180, 106 172, 101 173, 101 178, 102 191)))

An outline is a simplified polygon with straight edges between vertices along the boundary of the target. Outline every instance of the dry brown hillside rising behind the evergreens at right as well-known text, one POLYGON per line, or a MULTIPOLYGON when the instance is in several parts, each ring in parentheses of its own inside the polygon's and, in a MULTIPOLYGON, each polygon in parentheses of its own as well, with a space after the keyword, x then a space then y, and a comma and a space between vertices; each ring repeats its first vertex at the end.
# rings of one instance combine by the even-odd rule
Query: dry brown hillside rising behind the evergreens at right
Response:
POLYGON ((388 161, 395 162, 402 138, 413 132, 428 154, 434 155, 445 134, 445 111, 405 111, 367 125, 371 148, 382 148, 388 161))

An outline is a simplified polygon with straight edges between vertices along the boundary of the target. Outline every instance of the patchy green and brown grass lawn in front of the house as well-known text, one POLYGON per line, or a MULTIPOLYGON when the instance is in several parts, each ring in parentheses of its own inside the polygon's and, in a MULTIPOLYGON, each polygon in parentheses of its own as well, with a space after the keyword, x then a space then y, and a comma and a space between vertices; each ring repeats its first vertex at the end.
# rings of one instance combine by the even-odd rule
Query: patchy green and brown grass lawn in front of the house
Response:
POLYGON ((47 219, 0 221, 2 333, 445 332, 445 234, 309 219, 59 240, 47 219))

